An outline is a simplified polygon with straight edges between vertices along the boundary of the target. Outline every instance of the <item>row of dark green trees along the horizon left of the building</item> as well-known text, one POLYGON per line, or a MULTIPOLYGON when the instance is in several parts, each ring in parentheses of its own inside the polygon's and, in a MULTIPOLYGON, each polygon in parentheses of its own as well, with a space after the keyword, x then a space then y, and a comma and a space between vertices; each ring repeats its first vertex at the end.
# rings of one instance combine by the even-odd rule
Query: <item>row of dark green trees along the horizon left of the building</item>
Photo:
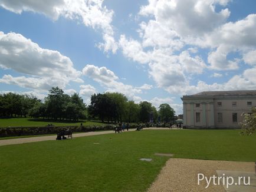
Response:
POLYGON ((0 94, 1 117, 51 118, 53 120, 101 120, 129 123, 168 123, 175 111, 169 104, 161 104, 157 110, 150 102, 136 104, 119 92, 105 92, 91 95, 90 105, 76 93, 64 94, 58 87, 52 87, 44 102, 34 96, 12 92, 0 94))

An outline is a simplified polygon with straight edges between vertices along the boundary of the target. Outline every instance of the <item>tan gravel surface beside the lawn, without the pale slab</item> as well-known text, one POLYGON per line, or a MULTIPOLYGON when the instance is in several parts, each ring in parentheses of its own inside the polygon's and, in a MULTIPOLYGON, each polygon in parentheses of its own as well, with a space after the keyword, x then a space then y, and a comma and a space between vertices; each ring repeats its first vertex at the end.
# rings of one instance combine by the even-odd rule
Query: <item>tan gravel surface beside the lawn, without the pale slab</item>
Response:
POLYGON ((205 188, 207 186, 205 180, 198 186, 198 173, 209 178, 218 176, 216 170, 255 171, 253 162, 170 158, 147 192, 225 191, 223 186, 214 186, 212 182, 208 188, 205 188))

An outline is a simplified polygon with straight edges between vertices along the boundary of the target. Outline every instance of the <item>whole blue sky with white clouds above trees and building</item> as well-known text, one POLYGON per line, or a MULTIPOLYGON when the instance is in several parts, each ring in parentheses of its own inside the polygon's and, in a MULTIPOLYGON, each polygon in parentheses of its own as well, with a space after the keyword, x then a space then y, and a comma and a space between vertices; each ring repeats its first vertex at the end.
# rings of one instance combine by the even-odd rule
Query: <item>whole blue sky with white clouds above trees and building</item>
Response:
POLYGON ((137 103, 256 90, 254 0, 0 0, 0 93, 137 103))

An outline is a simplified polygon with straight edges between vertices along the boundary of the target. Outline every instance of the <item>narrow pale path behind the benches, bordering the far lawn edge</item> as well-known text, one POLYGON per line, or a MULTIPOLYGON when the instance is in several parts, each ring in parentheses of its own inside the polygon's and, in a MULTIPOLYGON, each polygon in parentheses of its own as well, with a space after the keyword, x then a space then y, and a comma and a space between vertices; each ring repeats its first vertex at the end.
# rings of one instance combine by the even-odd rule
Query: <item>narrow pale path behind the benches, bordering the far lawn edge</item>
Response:
MULTIPOLYGON (((168 130, 169 128, 144 128, 145 130, 168 130)), ((135 131, 135 129, 129 129, 129 131, 135 131)), ((125 133, 126 131, 124 131, 125 133)), ((75 133, 73 134, 73 138, 76 137, 86 137, 86 136, 92 136, 92 135, 103 135, 103 134, 113 134, 114 131, 92 131, 92 132, 86 132, 86 133, 75 133)), ((38 141, 49 141, 49 140, 56 140, 56 135, 50 135, 50 136, 40 136, 40 137, 27 137, 27 138, 13 138, 9 140, 0 140, 0 146, 1 145, 14 145, 14 144, 22 144, 22 143, 32 143, 32 142, 38 142, 38 141)))

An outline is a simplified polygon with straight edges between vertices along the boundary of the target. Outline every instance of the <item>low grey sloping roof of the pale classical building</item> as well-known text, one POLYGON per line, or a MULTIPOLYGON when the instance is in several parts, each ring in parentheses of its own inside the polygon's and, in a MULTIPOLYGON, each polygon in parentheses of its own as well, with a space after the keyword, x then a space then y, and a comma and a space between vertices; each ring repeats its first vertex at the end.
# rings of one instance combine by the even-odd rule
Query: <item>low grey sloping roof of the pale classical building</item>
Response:
POLYGON ((191 96, 231 96, 231 95, 256 95, 256 90, 241 91, 203 91, 191 96))

